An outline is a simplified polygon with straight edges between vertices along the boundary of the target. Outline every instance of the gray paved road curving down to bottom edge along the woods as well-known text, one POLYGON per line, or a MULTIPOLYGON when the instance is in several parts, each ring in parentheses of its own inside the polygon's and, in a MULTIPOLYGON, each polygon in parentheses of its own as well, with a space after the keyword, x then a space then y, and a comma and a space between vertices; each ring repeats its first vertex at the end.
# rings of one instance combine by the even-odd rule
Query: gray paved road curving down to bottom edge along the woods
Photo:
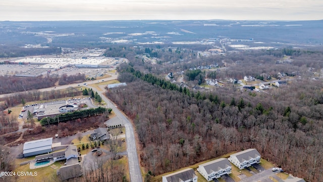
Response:
POLYGON ((106 107, 110 107, 113 109, 113 111, 116 113, 116 116, 122 121, 126 128, 126 141, 127 141, 127 150, 128 150, 128 164, 129 164, 129 173, 130 173, 130 180, 133 182, 139 182, 143 181, 139 160, 138 160, 138 154, 137 154, 137 147, 136 147, 136 139, 135 139, 135 133, 134 128, 128 118, 121 113, 118 108, 115 106, 113 102, 111 102, 109 99, 107 99, 103 93, 105 90, 99 91, 94 87, 88 86, 92 88, 94 91, 96 91, 102 98, 102 100, 106 103, 106 107))

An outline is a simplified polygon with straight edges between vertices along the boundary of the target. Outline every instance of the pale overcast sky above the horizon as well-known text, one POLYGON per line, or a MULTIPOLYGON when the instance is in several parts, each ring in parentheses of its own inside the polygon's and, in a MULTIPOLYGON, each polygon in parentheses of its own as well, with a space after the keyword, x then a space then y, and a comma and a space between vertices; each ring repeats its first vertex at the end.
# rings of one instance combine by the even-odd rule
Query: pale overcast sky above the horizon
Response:
POLYGON ((322 0, 0 0, 0 21, 321 20, 322 0))

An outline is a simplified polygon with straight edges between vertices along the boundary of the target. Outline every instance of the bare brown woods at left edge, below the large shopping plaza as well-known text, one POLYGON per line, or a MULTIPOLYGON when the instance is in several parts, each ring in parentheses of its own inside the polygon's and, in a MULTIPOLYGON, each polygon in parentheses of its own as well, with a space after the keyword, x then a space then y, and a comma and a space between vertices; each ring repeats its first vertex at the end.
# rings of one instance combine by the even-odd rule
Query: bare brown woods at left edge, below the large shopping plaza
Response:
POLYGON ((10 77, 0 76, 0 94, 47 88, 55 85, 55 77, 10 77))

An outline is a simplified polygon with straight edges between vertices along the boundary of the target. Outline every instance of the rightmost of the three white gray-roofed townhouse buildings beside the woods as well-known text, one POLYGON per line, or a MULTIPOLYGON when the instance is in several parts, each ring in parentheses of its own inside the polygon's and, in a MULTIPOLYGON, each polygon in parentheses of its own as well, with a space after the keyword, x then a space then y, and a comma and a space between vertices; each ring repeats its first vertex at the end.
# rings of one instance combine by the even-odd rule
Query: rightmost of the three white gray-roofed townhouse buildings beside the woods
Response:
POLYGON ((237 166, 239 169, 250 167, 251 164, 260 163, 261 155, 256 149, 248 149, 230 155, 228 160, 237 166))

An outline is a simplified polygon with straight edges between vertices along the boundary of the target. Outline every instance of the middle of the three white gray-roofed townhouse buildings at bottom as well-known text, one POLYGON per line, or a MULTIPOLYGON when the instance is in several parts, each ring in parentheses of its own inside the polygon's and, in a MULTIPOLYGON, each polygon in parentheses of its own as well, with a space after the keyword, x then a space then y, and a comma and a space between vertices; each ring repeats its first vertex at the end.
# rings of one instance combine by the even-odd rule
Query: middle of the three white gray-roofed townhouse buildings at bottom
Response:
POLYGON ((231 173, 231 163, 226 158, 220 158, 198 165, 197 171, 207 180, 219 178, 224 174, 231 173))

